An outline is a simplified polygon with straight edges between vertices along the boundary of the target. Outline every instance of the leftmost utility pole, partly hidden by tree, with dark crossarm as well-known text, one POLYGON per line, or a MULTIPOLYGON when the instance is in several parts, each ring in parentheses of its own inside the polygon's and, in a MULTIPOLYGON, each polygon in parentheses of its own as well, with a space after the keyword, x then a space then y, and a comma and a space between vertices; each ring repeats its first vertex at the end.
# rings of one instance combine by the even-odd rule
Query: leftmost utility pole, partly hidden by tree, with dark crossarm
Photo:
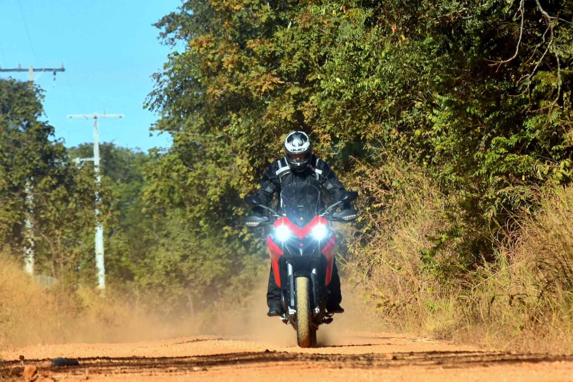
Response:
MULTIPOLYGON (((0 73, 2 72, 28 72, 28 81, 30 84, 34 83, 34 72, 53 72, 54 82, 56 81, 56 72, 65 72, 64 63, 60 65, 60 68, 36 68, 32 65, 28 69, 22 69, 22 65, 18 63, 17 68, 12 69, 2 69, 0 66, 0 73)), ((24 218, 24 227, 26 230, 26 238, 24 240, 24 269, 26 273, 34 275, 34 222, 32 216, 34 214, 34 194, 33 194, 33 184, 32 179, 26 180, 26 212, 24 218)))

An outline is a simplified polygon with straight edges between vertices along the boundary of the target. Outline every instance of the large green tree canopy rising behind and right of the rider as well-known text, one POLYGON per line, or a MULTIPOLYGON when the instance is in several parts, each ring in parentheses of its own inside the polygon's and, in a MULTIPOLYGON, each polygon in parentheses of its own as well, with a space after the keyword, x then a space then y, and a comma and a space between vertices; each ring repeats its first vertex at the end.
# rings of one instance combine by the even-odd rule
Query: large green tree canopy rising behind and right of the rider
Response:
POLYGON ((571 181, 572 17, 554 0, 183 2, 157 24, 185 51, 148 100, 174 145, 147 200, 245 239, 240 196, 304 129, 349 182, 393 158, 426 171, 452 203, 422 257, 453 245, 469 269, 531 186, 571 181))

